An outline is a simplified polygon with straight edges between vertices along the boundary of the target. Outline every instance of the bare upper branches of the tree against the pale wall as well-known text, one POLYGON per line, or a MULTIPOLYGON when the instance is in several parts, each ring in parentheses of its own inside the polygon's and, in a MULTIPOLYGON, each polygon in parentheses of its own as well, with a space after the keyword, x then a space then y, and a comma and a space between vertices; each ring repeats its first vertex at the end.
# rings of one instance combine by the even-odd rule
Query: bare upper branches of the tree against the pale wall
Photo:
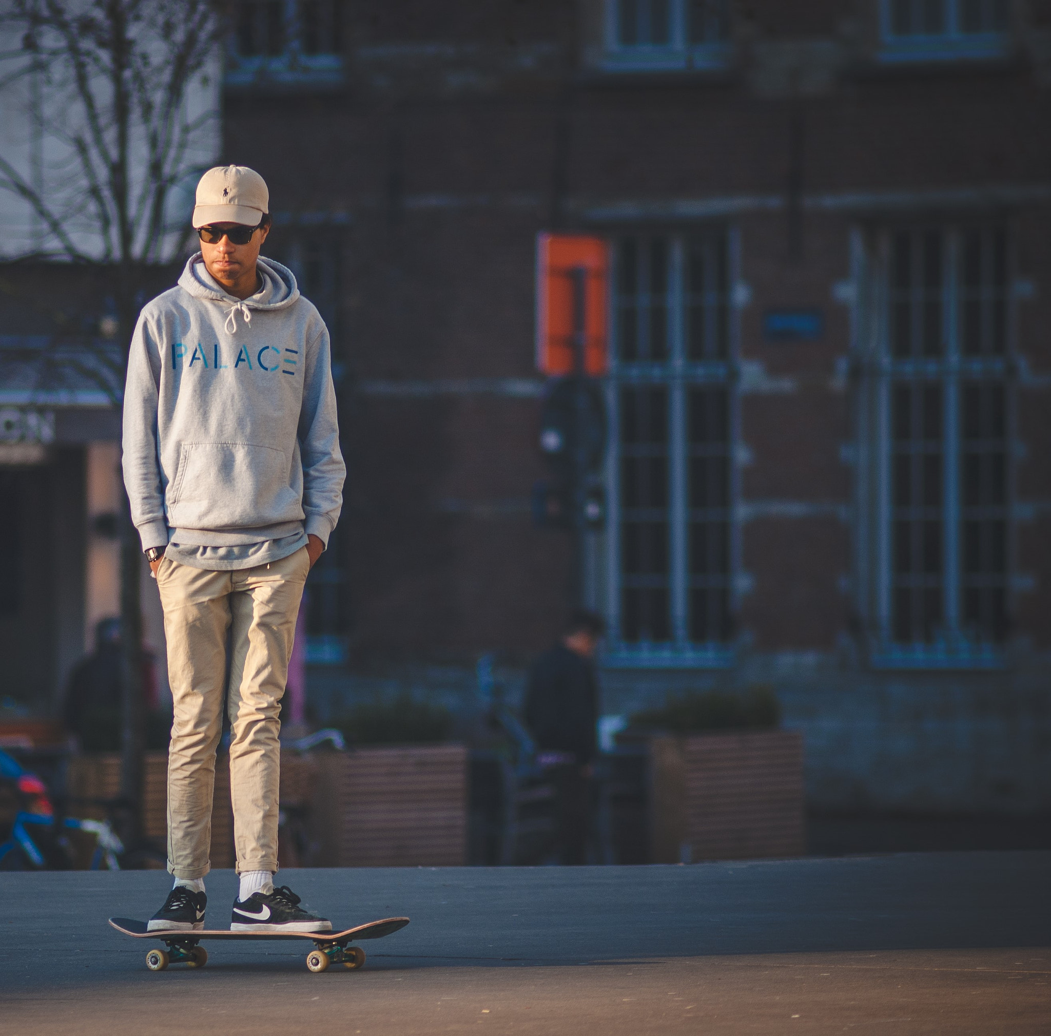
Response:
POLYGON ((63 225, 59 208, 13 162, 0 167, 0 189, 28 201, 70 258, 86 258, 89 246, 75 237, 86 218, 98 240, 94 258, 124 267, 162 261, 186 239, 167 225, 172 190, 197 171, 190 149, 215 118, 187 117, 186 99, 219 42, 222 0, 9 2, 3 20, 24 28, 23 67, 0 80, 0 89, 24 77, 29 56, 46 69, 50 89, 69 89, 74 104, 38 125, 76 159, 83 203, 67 177, 60 207, 71 205, 76 222, 63 225))

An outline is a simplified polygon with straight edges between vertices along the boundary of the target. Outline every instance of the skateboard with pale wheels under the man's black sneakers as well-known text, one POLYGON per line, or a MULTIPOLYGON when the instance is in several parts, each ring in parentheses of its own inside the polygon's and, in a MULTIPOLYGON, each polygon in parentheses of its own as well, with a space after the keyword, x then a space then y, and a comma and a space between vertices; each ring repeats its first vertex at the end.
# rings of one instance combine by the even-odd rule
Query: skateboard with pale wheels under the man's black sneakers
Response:
POLYGON ((136 921, 128 917, 110 917, 109 923, 124 935, 133 939, 158 939, 167 950, 150 950, 146 954, 146 967, 150 971, 164 971, 168 964, 185 963, 190 968, 204 968, 208 962, 208 951, 198 946, 201 939, 309 939, 314 949, 307 954, 307 968, 314 972, 325 971, 329 964, 343 964, 351 970, 365 963, 365 951, 360 947, 348 946, 363 939, 382 939, 385 935, 403 929, 409 923, 408 917, 385 917, 369 921, 342 932, 230 932, 223 929, 163 929, 148 931, 146 921, 136 921))

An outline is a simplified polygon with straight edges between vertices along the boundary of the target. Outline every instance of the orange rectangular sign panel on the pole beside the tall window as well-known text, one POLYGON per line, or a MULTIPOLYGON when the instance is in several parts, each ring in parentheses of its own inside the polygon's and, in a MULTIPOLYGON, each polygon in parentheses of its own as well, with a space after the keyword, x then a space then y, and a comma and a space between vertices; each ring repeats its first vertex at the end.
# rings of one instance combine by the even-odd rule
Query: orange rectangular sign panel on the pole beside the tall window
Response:
POLYGON ((584 370, 609 367, 610 246, 602 238, 541 233, 536 243, 536 365, 545 374, 574 372, 576 270, 583 270, 584 370))

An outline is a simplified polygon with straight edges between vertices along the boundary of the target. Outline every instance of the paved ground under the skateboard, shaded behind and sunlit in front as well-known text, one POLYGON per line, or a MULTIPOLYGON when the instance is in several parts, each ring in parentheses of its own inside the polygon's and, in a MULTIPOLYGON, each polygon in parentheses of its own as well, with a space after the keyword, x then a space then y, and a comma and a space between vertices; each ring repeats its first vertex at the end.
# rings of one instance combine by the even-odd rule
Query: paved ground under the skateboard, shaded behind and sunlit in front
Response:
MULTIPOLYGON (((0 1032, 1051 1033, 1051 853, 282 877, 412 923, 358 972, 212 942, 152 974, 105 918, 151 913, 163 874, 3 874, 0 1032)), ((212 925, 234 890, 209 876, 212 925)))

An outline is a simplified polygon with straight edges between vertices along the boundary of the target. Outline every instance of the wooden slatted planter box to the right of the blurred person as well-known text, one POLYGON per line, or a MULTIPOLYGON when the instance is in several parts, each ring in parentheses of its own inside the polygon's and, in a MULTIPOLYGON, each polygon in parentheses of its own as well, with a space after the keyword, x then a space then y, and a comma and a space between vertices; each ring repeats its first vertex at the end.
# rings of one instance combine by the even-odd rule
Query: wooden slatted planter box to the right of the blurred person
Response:
POLYGON ((803 737, 741 731, 650 740, 655 864, 801 856, 803 737))

